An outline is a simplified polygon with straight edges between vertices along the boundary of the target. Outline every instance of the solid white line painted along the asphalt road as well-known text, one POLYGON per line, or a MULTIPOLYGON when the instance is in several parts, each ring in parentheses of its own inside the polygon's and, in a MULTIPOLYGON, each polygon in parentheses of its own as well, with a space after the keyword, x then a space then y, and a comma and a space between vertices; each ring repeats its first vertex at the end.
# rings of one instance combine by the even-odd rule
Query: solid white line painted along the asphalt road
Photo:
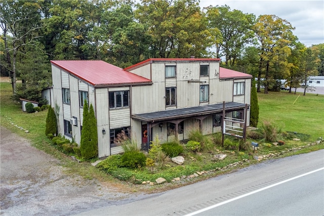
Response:
POLYGON ((258 192, 260 192, 260 191, 263 191, 263 190, 266 190, 266 189, 272 188, 272 187, 274 187, 274 186, 277 186, 277 185, 280 185, 280 184, 284 184, 284 183, 286 183, 286 182, 289 182, 289 181, 292 181, 292 180, 298 179, 298 178, 303 177, 303 176, 307 176, 307 175, 309 175, 309 174, 312 174, 312 173, 314 173, 314 172, 320 171, 320 170, 322 170, 322 169, 324 169, 324 167, 319 168, 319 169, 316 169, 316 170, 313 170, 313 171, 310 171, 310 172, 307 172, 307 173, 305 173, 305 174, 302 174, 302 175, 300 175, 300 176, 296 176, 296 177, 291 178, 291 179, 287 179, 287 180, 282 181, 282 182, 275 183, 275 184, 273 184, 273 185, 269 185, 269 186, 264 187, 264 188, 260 188, 260 189, 258 189, 258 190, 252 191, 252 192, 247 193, 247 194, 240 195, 240 196, 238 196, 238 197, 235 197, 235 198, 232 198, 232 199, 226 200, 226 201, 224 201, 224 202, 220 202, 220 203, 217 203, 217 204, 215 204, 215 205, 211 205, 211 206, 209 206, 209 207, 206 207, 206 208, 203 208, 203 209, 200 209, 200 210, 197 210, 197 211, 191 212, 191 213, 186 214, 186 215, 184 215, 184 216, 191 216, 191 215, 195 215, 195 214, 198 214, 198 213, 201 213, 201 212, 204 212, 204 211, 210 210, 210 209, 212 209, 212 208, 216 208, 217 206, 224 205, 224 204, 226 204, 226 203, 232 202, 232 201, 234 201, 234 200, 237 200, 237 199, 240 199, 240 198, 243 198, 243 197, 246 197, 246 196, 250 196, 250 195, 252 195, 252 194, 255 194, 255 193, 258 193, 258 192))

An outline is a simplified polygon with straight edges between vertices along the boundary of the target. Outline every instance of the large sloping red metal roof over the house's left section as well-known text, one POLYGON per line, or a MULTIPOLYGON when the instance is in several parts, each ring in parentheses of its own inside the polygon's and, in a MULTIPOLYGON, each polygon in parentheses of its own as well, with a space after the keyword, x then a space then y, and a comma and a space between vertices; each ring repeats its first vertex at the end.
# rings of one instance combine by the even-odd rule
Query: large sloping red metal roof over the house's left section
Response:
POLYGON ((54 60, 51 63, 95 86, 152 82, 99 60, 54 60))

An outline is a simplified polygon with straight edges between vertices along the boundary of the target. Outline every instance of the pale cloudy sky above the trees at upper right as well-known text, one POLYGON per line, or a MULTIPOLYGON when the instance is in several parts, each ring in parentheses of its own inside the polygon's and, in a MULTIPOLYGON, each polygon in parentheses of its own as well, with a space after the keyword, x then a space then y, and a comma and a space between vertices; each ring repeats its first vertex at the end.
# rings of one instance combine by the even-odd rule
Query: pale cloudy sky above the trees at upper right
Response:
POLYGON ((200 8, 227 5, 245 14, 275 15, 291 23, 295 36, 306 47, 324 43, 324 1, 200 0, 200 8))

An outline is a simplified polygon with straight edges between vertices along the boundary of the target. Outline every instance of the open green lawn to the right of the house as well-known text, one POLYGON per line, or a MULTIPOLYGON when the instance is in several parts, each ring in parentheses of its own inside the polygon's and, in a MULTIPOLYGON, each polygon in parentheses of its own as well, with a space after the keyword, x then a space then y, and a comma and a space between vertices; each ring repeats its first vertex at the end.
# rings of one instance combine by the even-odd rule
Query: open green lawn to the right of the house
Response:
POLYGON ((258 102, 260 108, 258 126, 264 121, 270 121, 280 126, 283 131, 308 134, 311 141, 324 136, 323 95, 258 93, 258 102))

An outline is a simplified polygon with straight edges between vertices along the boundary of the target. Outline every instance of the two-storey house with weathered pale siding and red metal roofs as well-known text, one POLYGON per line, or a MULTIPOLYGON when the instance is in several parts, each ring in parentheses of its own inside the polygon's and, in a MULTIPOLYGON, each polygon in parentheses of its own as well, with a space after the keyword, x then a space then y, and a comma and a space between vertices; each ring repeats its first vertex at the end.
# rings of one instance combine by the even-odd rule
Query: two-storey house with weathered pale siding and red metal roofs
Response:
POLYGON ((125 69, 103 61, 51 64, 59 134, 80 143, 87 100, 97 118, 99 158, 123 152, 115 143, 121 131, 147 147, 155 136, 186 140, 194 126, 204 135, 219 132, 223 113, 250 123, 252 76, 221 68, 220 59, 147 59, 125 69))

